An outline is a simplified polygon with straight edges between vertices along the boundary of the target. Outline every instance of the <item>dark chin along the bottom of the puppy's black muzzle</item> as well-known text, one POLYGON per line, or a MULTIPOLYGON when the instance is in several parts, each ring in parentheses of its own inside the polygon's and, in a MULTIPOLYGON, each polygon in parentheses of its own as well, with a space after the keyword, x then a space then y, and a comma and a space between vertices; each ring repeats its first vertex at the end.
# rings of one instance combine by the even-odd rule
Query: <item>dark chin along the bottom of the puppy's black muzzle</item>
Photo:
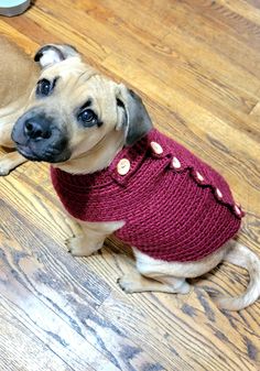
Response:
POLYGON ((63 163, 71 159, 68 151, 58 152, 55 149, 47 149, 43 153, 33 151, 28 145, 17 144, 18 152, 25 159, 34 162, 47 162, 50 164, 63 163))

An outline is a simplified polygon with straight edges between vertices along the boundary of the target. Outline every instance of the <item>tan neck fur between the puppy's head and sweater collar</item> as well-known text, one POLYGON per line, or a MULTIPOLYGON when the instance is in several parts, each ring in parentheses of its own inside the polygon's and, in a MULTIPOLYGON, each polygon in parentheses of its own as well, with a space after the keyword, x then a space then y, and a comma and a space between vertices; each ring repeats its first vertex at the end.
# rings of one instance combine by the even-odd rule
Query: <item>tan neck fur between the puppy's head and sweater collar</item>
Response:
POLYGON ((123 143, 123 132, 112 131, 86 154, 53 166, 71 174, 91 174, 109 166, 118 152, 122 150, 123 143))

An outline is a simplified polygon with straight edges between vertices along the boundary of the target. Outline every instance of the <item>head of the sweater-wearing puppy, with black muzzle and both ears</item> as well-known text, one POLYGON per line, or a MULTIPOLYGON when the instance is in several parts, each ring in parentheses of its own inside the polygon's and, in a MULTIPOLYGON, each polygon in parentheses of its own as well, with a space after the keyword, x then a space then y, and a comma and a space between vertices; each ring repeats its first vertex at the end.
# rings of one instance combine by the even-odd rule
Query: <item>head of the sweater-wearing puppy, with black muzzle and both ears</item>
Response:
POLYGON ((12 139, 29 160, 64 163, 90 151, 111 132, 132 145, 152 127, 142 100, 105 78, 68 45, 46 45, 35 55, 40 79, 12 139))

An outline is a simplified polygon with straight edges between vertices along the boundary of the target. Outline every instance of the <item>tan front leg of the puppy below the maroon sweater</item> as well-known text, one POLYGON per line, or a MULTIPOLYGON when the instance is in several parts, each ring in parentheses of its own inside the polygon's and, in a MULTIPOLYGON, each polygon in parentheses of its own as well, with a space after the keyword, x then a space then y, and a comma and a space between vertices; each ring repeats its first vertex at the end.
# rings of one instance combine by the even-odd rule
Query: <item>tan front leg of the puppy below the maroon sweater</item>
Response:
POLYGON ((123 221, 88 222, 79 221, 82 231, 68 238, 66 244, 74 257, 89 257, 104 245, 105 239, 123 226, 123 221))

